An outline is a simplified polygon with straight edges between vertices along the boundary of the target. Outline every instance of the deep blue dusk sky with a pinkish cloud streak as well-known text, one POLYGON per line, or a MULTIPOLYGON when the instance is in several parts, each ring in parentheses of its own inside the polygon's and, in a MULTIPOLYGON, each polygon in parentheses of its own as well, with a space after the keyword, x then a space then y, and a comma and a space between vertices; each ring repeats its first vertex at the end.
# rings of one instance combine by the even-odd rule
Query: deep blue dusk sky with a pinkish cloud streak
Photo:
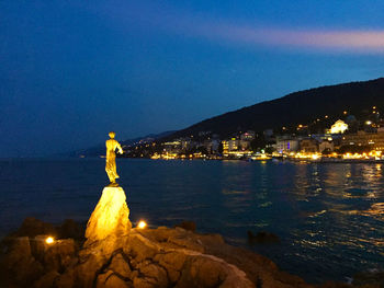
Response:
POLYGON ((383 77, 384 1, 0 1, 0 158, 383 77))

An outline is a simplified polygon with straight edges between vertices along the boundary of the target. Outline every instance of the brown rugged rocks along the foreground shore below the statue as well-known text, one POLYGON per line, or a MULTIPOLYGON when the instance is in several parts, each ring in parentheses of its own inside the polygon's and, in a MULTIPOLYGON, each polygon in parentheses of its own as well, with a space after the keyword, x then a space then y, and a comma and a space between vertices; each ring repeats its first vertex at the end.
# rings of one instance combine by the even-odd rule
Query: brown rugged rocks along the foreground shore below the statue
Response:
MULTIPOLYGON (((315 287, 264 256, 226 244, 218 234, 159 227, 92 243, 83 235, 84 227, 72 220, 54 227, 25 219, 1 242, 0 287, 315 287), (48 244, 47 235, 58 240, 48 244)), ((361 275, 354 286, 317 287, 383 287, 382 276, 361 275)))

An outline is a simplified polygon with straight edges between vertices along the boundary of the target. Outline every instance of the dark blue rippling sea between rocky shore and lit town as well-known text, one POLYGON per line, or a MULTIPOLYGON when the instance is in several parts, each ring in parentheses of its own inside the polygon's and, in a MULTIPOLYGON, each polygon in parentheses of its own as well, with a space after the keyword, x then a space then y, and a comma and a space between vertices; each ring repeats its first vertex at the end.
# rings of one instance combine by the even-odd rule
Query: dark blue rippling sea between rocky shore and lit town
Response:
MULTIPOLYGON (((131 219, 193 220, 312 283, 384 267, 384 166, 117 160, 131 219), (282 242, 249 246, 247 230, 282 242)), ((108 184, 103 159, 0 161, 0 233, 26 216, 87 221, 108 184)))

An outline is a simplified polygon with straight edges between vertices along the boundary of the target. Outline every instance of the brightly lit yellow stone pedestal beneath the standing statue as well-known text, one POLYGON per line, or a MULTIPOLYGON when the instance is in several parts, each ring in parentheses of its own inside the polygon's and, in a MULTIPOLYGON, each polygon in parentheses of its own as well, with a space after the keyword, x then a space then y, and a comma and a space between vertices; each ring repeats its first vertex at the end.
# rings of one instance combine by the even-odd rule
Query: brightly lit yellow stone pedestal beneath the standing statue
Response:
POLYGON ((87 244, 108 237, 126 235, 132 228, 129 209, 122 187, 104 187, 101 198, 87 224, 87 244))

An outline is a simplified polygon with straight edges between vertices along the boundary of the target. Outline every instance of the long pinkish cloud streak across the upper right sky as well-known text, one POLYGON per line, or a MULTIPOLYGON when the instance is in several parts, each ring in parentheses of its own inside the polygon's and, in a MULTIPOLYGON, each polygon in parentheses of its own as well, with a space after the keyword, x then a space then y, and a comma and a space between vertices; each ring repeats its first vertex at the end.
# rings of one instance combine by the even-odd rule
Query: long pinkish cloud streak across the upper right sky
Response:
POLYGON ((330 51, 384 53, 384 31, 294 30, 204 24, 204 28, 199 28, 196 32, 203 32, 201 36, 233 44, 330 51))

